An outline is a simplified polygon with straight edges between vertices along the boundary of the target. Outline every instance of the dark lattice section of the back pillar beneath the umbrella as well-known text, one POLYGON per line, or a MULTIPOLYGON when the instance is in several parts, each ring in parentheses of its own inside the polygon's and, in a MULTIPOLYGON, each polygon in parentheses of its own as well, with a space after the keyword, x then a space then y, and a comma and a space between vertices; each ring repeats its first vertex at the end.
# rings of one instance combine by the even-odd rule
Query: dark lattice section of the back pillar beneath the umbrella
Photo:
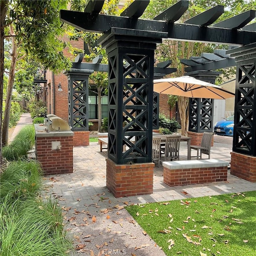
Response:
POLYGON ((213 99, 190 98, 189 126, 190 132, 212 131, 213 99))

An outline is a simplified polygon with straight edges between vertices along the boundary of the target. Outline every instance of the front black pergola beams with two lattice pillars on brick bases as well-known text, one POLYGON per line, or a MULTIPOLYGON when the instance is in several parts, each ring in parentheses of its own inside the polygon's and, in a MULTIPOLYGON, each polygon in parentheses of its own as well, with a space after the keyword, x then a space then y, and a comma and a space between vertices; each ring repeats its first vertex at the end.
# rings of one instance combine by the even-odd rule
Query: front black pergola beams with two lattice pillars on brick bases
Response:
POLYGON ((188 0, 180 0, 153 20, 140 19, 148 3, 149 0, 135 0, 121 16, 99 14, 104 4, 101 0, 90 1, 84 12, 60 12, 63 22, 83 31, 103 33, 98 44, 108 53, 106 183, 116 197, 152 193, 154 50, 164 38, 241 46, 227 52, 235 58, 237 66, 232 157, 244 159, 243 155, 249 155, 252 162, 256 161, 256 32, 255 23, 247 26, 256 11, 249 10, 214 24, 224 13, 224 6, 218 5, 178 23, 189 4, 188 0), (129 183, 125 179, 117 182, 120 173, 125 173, 126 181, 130 173, 129 183), (144 176, 140 182, 143 185, 136 183, 138 173, 144 176))

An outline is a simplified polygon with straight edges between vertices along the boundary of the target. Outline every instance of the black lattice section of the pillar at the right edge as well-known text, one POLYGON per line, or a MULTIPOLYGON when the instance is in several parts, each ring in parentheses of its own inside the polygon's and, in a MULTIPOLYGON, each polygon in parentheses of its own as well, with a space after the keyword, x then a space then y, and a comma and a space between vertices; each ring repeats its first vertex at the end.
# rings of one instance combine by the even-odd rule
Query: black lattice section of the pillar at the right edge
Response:
POLYGON ((233 151, 256 156, 256 60, 239 62, 236 69, 233 151))

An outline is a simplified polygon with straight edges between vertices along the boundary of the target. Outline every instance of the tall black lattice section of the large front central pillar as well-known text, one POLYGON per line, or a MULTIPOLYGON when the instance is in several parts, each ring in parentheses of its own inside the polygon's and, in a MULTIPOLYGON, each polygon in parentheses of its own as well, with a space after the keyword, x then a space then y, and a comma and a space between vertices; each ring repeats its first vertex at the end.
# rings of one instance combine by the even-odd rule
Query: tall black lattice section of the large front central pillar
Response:
POLYGON ((153 54, 119 48, 108 56, 108 158, 117 164, 152 161, 153 54))

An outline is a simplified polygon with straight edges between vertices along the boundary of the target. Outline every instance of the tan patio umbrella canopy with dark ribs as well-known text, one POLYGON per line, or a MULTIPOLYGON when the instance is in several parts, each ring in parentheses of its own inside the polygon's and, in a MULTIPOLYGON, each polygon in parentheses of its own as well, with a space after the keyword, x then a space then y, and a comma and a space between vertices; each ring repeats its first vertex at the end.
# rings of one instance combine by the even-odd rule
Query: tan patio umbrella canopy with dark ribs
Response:
POLYGON ((198 80, 191 76, 154 80, 154 92, 188 98, 226 99, 235 94, 220 86, 198 80))

